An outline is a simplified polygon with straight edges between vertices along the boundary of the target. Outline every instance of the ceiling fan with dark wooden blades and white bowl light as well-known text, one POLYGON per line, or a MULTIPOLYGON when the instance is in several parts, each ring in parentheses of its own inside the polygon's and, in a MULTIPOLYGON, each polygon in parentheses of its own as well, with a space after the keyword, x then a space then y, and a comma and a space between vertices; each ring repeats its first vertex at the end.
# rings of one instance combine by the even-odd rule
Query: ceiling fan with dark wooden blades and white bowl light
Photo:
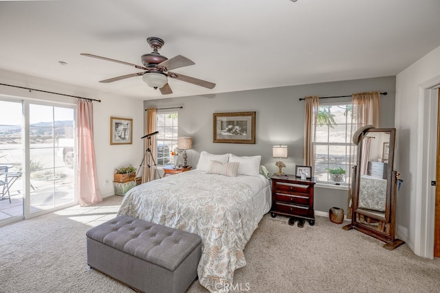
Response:
POLYGON ((137 69, 144 70, 142 72, 118 76, 116 78, 109 78, 108 80, 100 80, 100 82, 105 82, 105 83, 115 82, 117 80, 124 80, 125 78, 132 78, 134 76, 142 75, 142 80, 144 80, 144 82, 153 89, 159 89, 162 95, 168 95, 170 93, 173 93, 173 91, 171 91, 171 88, 168 84, 168 77, 175 78, 176 80, 181 80, 184 82, 190 82, 191 84, 197 84, 198 86, 203 86, 208 89, 214 89, 215 84, 212 82, 207 82, 206 80, 199 80, 198 78, 192 78, 187 75, 168 71, 180 67, 195 65, 195 62, 192 62, 188 58, 181 55, 177 55, 170 59, 160 55, 158 53, 158 50, 162 48, 162 46, 165 43, 164 40, 162 40, 162 38, 157 38, 155 36, 152 36, 147 38, 146 41, 153 49, 153 51, 150 54, 142 55, 141 61, 142 61, 142 65, 144 66, 135 65, 129 62, 124 62, 120 60, 93 55, 93 54, 82 53, 80 55, 107 60, 111 62, 117 62, 124 65, 135 67, 137 69))

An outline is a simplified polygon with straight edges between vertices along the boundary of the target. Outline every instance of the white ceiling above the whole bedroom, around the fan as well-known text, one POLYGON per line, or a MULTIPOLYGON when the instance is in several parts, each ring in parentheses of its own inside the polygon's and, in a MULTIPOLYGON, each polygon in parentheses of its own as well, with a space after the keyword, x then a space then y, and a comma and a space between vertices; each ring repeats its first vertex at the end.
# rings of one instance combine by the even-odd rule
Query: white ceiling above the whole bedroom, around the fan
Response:
POLYGON ((439 27, 438 0, 0 1, 0 69, 136 99, 208 95, 396 75, 440 46, 439 27), (142 65, 148 36, 195 62, 173 72, 217 86, 104 84, 142 70, 80 56, 142 65))

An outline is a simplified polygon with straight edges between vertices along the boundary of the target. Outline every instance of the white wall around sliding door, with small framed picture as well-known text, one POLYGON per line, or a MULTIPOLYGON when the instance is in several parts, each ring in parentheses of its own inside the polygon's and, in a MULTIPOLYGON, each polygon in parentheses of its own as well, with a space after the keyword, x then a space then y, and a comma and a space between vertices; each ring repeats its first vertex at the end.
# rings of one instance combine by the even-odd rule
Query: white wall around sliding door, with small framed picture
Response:
MULTIPOLYGON (((21 75, 10 71, 0 70, 2 84, 23 86, 43 91, 64 93, 91 99, 101 99, 102 102, 94 103, 94 145, 96 151, 96 165, 98 172, 98 185, 103 197, 112 196, 113 172, 115 168, 124 165, 139 167, 144 151, 144 102, 140 99, 130 99, 111 95, 109 93, 98 93, 96 91, 80 88, 71 84, 62 84, 51 80, 44 80, 28 75, 21 75), (131 145, 110 145, 110 117, 124 117, 133 119, 133 144, 131 145), (109 185, 105 185, 109 180, 109 185)), ((74 97, 28 91, 10 86, 0 85, 0 95, 9 97, 21 97, 25 99, 46 100, 63 104, 76 104, 74 97)))

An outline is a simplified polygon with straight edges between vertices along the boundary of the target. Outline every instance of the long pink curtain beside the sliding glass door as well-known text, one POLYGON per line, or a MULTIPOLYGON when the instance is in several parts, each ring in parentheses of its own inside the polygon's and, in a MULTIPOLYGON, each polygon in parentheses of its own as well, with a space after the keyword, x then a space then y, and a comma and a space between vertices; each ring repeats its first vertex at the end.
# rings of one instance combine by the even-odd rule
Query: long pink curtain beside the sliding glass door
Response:
POLYGON ((78 138, 78 192, 80 206, 102 202, 98 189, 98 175, 94 148, 94 105, 78 99, 76 111, 76 136, 78 138))

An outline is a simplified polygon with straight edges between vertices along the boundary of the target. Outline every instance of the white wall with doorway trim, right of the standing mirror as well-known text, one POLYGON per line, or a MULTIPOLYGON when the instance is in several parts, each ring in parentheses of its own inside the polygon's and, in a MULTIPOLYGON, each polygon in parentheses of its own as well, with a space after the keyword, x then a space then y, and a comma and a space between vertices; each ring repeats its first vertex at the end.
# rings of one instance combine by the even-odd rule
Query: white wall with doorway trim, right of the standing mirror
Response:
POLYGON ((434 49, 396 77, 396 170, 404 183, 397 194, 397 234, 423 257, 432 257, 433 207, 435 187, 432 177, 432 152, 437 130, 434 98, 424 89, 439 80, 440 47, 434 49))

